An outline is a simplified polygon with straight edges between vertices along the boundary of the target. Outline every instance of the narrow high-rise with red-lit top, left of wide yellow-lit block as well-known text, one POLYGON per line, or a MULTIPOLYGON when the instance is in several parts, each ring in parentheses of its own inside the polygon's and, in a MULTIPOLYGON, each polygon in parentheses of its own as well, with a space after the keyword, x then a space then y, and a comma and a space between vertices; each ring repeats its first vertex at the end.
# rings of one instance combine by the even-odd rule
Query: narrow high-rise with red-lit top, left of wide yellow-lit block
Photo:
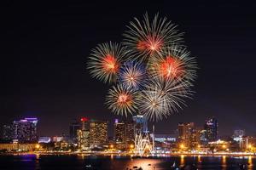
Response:
POLYGON ((86 117, 80 119, 81 126, 77 130, 77 139, 80 150, 89 150, 90 149, 90 122, 86 117))

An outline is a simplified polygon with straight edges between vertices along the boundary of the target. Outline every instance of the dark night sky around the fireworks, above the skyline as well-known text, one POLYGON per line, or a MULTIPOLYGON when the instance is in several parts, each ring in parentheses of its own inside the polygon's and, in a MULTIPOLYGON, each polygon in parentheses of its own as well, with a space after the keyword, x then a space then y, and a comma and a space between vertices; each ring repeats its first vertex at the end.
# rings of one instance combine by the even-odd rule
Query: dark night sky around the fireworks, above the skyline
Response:
POLYGON ((103 105, 108 86, 90 78, 86 59, 97 43, 120 42, 125 25, 148 11, 185 32, 200 67, 194 99, 156 131, 172 133, 177 122, 202 126, 215 116, 221 135, 236 128, 256 135, 256 3, 38 2, 1 5, 2 124, 38 116, 40 134, 55 135, 80 116, 113 120, 103 105))

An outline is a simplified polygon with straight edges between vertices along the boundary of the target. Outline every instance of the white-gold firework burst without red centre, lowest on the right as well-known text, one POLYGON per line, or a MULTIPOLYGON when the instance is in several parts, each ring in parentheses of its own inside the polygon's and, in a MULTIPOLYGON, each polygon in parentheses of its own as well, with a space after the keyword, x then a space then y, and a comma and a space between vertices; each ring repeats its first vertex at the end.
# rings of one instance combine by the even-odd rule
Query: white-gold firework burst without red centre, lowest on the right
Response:
POLYGON ((149 120, 158 121, 177 111, 177 108, 182 108, 183 99, 190 96, 188 82, 152 77, 142 92, 139 111, 149 120))

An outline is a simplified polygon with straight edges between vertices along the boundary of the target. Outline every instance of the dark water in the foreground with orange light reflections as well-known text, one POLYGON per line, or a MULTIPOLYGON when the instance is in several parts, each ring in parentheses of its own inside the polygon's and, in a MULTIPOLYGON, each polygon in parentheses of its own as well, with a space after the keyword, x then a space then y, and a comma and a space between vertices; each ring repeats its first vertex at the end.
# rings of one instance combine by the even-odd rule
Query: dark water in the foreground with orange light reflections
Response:
POLYGON ((177 166, 195 164, 198 169, 256 169, 256 158, 252 156, 171 156, 164 158, 133 158, 119 156, 0 156, 0 170, 86 170, 91 165, 97 170, 126 170, 134 166, 143 170, 171 169, 177 166))

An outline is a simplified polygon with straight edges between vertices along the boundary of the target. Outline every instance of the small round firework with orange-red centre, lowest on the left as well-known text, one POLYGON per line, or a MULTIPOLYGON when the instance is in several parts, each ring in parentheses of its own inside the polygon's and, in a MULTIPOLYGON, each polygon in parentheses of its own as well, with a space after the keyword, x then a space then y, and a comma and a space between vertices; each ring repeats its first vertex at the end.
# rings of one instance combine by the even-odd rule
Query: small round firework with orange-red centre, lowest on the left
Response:
POLYGON ((132 115, 137 111, 137 91, 123 86, 113 86, 108 92, 106 105, 117 115, 132 115))

